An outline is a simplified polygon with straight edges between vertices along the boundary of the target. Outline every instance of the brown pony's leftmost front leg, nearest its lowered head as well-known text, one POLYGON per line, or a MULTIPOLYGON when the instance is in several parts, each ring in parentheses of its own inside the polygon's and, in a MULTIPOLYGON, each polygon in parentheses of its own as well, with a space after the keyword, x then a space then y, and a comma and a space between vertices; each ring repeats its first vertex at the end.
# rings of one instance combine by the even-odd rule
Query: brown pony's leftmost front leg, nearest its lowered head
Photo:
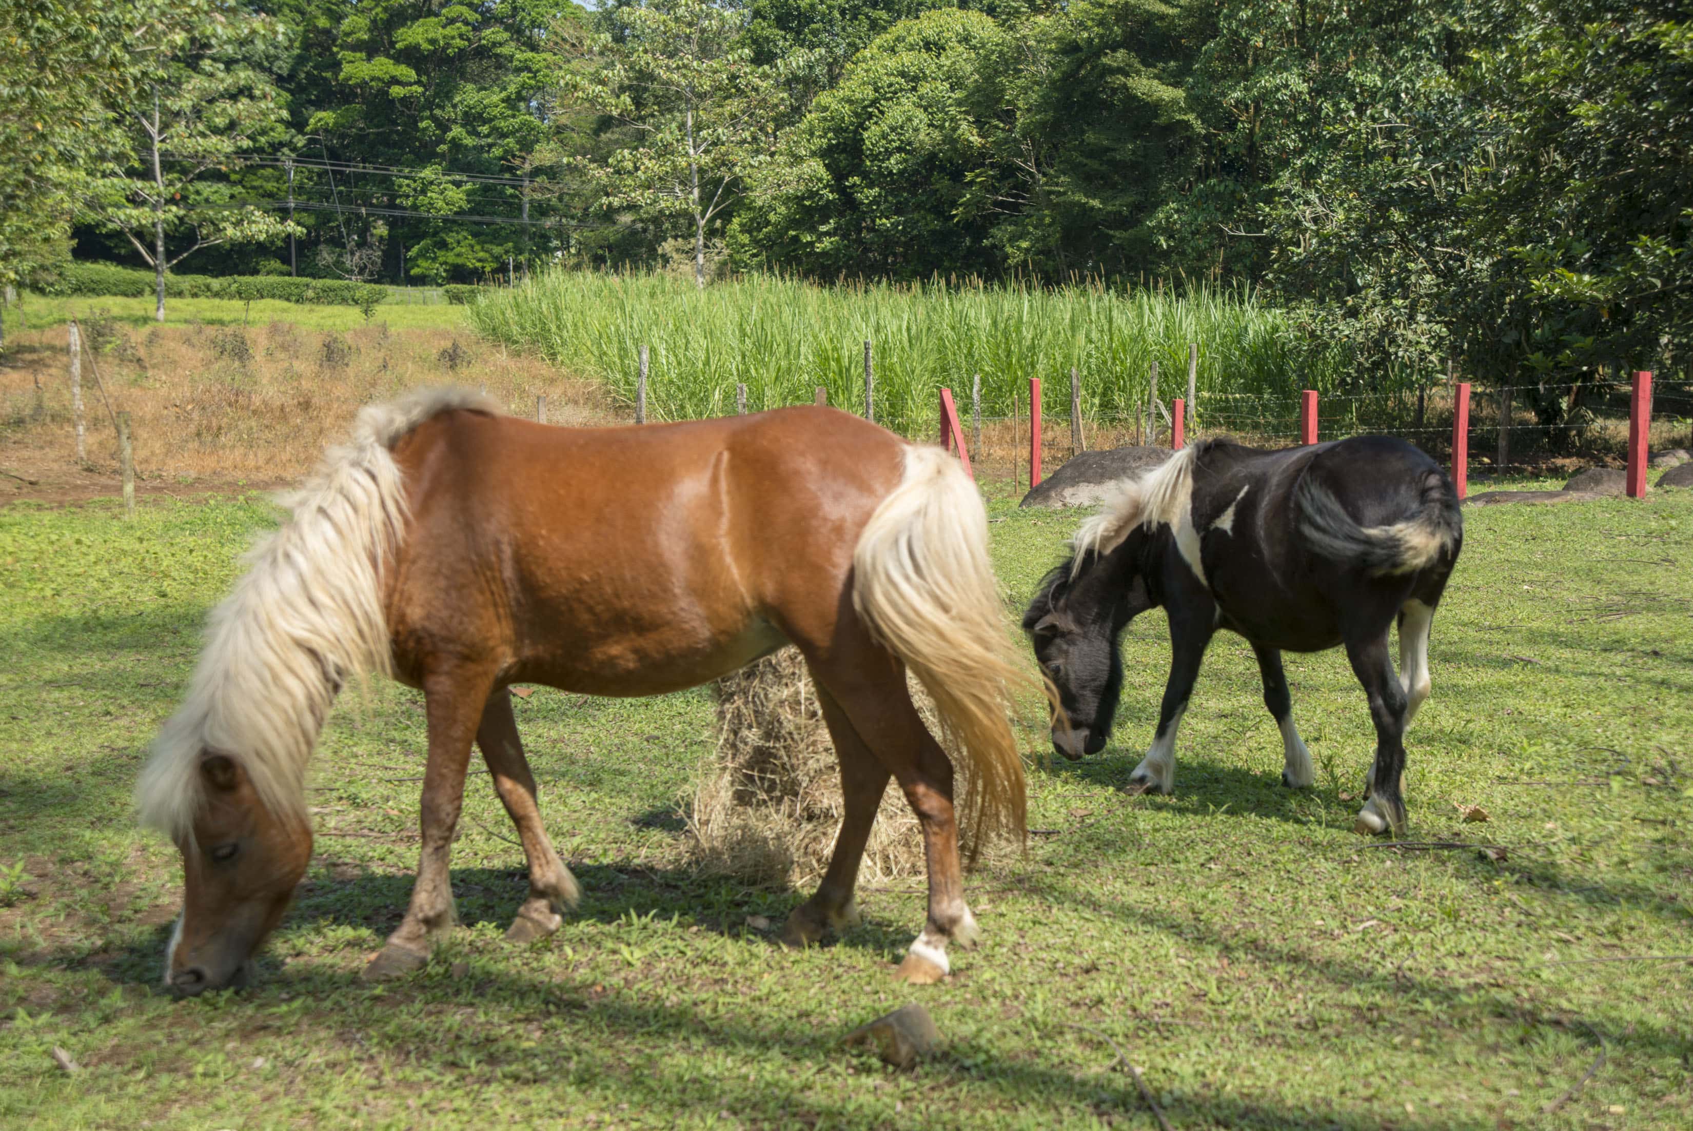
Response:
POLYGON ((411 887, 406 918, 388 936, 383 952, 364 968, 366 979, 391 979, 422 968, 428 962, 430 940, 459 921, 447 863, 452 835, 459 826, 459 811, 464 808, 464 774, 471 760, 471 740, 483 718, 491 686, 491 676, 483 672, 469 676, 462 669, 423 681, 428 765, 423 769, 423 803, 418 816, 423 841, 418 879, 411 887))

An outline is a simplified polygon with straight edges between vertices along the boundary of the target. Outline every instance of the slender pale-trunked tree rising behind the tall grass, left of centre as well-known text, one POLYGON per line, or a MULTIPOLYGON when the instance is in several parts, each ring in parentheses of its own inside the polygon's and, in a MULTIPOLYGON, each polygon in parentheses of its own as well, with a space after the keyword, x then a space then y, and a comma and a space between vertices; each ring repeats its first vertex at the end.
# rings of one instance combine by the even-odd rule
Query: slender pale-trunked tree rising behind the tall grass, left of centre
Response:
POLYGON ((582 159, 604 208, 692 223, 694 283, 706 284, 706 230, 740 200, 775 147, 779 68, 757 66, 745 17, 708 0, 648 0, 611 12, 615 29, 579 42, 599 66, 560 73, 560 88, 603 112, 630 144, 582 159))

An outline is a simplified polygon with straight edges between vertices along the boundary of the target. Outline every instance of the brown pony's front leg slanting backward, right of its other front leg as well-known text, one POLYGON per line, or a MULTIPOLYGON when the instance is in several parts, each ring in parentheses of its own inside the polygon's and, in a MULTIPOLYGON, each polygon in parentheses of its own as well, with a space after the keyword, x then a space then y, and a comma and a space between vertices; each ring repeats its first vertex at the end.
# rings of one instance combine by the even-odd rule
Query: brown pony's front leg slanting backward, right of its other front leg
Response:
POLYGON ((505 687, 489 696, 483 709, 483 725, 476 730, 476 745, 483 750, 483 762, 488 764, 494 791, 518 831, 530 869, 530 894, 518 908, 506 940, 530 943, 559 930, 564 923, 562 914, 577 904, 582 889, 571 875, 571 869, 564 867, 540 821, 535 775, 530 772, 528 759, 523 757, 518 721, 511 713, 511 692, 505 687))

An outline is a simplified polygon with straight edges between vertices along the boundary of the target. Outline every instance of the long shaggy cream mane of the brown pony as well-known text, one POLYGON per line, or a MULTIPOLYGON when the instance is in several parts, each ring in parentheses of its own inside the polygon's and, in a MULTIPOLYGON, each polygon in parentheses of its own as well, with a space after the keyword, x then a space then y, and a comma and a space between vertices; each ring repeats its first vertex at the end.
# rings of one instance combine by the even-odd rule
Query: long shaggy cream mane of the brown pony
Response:
POLYGON ((247 574, 212 611, 188 694, 152 743, 135 787, 144 825, 191 836, 208 752, 240 764, 273 813, 305 818, 306 762, 335 694, 393 664, 383 569, 406 527, 393 447, 450 408, 498 411, 469 389, 371 405, 347 444, 279 499, 293 516, 247 554, 247 574))

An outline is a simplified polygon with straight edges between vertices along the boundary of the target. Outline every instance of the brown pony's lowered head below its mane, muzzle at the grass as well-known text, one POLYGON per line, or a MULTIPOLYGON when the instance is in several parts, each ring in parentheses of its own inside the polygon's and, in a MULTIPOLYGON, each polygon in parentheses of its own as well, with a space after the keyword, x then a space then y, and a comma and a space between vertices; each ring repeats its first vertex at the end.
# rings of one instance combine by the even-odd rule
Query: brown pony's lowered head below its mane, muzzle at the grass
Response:
POLYGON ((200 803, 173 836, 183 914, 164 955, 164 984, 178 994, 244 984, 312 860, 310 823, 266 804, 237 759, 203 750, 191 772, 200 803))

